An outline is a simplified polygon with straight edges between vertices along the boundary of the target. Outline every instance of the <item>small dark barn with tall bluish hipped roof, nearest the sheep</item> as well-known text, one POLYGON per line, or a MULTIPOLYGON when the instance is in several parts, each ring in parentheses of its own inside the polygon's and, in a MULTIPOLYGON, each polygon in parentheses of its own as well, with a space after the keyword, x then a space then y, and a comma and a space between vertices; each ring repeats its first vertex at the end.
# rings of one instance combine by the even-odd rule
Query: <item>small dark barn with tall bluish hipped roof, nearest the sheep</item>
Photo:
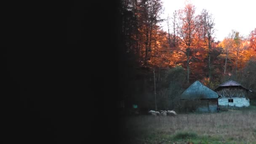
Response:
POLYGON ((187 101, 187 104, 194 103, 195 111, 198 112, 216 112, 218 94, 197 80, 181 93, 181 101, 187 101))

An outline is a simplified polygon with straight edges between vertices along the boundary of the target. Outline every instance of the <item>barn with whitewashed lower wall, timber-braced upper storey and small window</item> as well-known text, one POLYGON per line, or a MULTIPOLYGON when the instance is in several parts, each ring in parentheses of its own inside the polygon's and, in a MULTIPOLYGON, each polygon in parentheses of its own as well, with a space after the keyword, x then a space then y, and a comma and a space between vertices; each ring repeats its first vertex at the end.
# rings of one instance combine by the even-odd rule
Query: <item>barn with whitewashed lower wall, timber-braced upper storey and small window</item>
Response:
POLYGON ((215 88, 214 91, 219 95, 218 103, 220 107, 250 106, 250 101, 246 98, 246 93, 251 90, 245 88, 234 80, 228 80, 227 82, 222 83, 215 88))

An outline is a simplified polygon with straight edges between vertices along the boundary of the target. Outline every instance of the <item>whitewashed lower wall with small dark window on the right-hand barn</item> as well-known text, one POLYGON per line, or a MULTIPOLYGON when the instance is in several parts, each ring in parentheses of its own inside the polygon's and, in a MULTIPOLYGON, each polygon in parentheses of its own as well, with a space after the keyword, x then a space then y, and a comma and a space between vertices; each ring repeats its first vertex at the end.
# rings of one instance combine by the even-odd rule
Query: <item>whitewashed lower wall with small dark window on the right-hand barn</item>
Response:
MULTIPOLYGON (((232 100, 231 100, 232 101, 232 100)), ((219 106, 236 106, 236 107, 248 107, 250 106, 249 99, 246 98, 219 98, 219 106), (229 99, 233 99, 233 102, 229 102, 229 99)))

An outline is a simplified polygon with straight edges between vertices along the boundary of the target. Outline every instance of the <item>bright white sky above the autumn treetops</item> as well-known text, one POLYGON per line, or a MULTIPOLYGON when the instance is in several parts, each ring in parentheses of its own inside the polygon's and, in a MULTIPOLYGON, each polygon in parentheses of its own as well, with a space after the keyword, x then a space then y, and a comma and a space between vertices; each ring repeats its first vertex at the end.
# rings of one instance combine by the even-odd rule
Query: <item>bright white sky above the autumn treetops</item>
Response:
MULTIPOLYGON (((232 29, 241 36, 247 37, 256 28, 256 1, 254 0, 162 0, 163 19, 171 16, 175 10, 184 8, 188 1, 195 5, 195 13, 200 14, 204 9, 213 14, 215 21, 215 41, 222 41, 232 29)), ((168 32, 166 21, 161 24, 168 32)))

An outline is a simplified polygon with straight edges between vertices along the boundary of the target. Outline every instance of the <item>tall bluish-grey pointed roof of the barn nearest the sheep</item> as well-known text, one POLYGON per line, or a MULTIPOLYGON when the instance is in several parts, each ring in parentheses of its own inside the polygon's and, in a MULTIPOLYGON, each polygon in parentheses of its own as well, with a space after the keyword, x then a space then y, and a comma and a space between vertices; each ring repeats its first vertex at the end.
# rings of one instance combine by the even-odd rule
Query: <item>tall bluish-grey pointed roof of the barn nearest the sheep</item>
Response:
POLYGON ((181 99, 216 99, 218 94, 198 80, 181 93, 181 99))

